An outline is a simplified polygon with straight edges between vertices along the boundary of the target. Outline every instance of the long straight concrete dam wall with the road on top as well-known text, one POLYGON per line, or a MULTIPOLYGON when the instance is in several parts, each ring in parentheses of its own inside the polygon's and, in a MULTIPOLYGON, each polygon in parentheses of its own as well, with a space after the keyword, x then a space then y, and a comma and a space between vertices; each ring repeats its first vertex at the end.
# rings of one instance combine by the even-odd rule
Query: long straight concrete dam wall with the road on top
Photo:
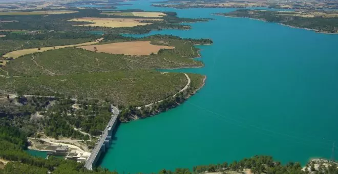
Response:
POLYGON ((85 167, 89 170, 93 169, 93 166, 96 165, 97 160, 100 158, 101 153, 105 152, 107 148, 110 146, 110 142, 112 141, 112 136, 114 132, 114 128, 118 122, 117 116, 119 114, 118 109, 115 106, 112 107, 112 118, 110 119, 107 127, 103 130, 102 136, 98 139, 96 146, 94 147, 91 155, 87 158, 85 167))

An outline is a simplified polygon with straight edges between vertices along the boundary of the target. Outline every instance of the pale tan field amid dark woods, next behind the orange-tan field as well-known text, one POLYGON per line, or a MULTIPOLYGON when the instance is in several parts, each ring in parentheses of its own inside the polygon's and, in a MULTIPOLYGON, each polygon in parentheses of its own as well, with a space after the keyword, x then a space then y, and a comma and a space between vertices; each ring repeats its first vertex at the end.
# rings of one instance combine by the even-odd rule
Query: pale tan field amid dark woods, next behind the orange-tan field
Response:
POLYGON ((135 26, 145 26, 152 23, 142 23, 142 21, 149 20, 163 20, 163 19, 147 19, 147 18, 98 18, 98 17, 82 17, 71 19, 70 21, 84 21, 94 24, 85 24, 77 26, 92 26, 92 27, 135 27, 135 26))

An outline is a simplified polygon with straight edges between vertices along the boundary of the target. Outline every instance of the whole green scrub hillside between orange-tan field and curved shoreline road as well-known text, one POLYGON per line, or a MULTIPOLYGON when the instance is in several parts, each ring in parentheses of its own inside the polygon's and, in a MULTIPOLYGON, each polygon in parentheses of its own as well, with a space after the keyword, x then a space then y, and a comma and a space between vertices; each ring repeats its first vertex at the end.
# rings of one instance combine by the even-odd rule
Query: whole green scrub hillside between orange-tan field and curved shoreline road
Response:
MULTIPOLYGON (((75 98, 107 98, 118 104, 141 105, 173 96, 187 83, 182 73, 161 74, 151 69, 202 66, 202 62, 191 59, 198 55, 192 41, 168 36, 139 40, 151 40, 153 44, 175 49, 150 56, 113 55, 77 48, 34 53, 11 60, 2 68, 0 74, 6 75, 8 71, 9 75, 21 77, 1 78, 0 89, 36 95, 57 92, 75 98)), ((106 43, 109 42, 112 41, 106 43)), ((192 83, 188 93, 193 93, 204 77, 189 76, 192 83)))

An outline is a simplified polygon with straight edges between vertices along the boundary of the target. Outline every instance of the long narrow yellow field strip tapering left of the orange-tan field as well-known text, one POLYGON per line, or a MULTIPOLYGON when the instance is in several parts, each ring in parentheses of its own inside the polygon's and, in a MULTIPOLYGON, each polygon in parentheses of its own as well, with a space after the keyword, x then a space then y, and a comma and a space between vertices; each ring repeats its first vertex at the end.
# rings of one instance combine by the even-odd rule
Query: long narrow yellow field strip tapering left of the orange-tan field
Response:
POLYGON ((38 50, 38 48, 31 48, 31 49, 25 49, 25 50, 16 50, 16 51, 12 51, 12 52, 9 52, 9 53, 5 54, 3 57, 18 58, 18 57, 23 56, 23 55, 32 54, 32 53, 36 53, 36 52, 43 52, 43 51, 47 51, 47 50, 54 50, 54 49, 67 48, 67 47, 79 47, 79 46, 92 45, 92 44, 97 44, 102 39, 103 38, 100 38, 100 39, 98 39, 96 41, 85 42, 85 43, 82 43, 82 44, 74 44, 74 45, 67 45, 67 46, 56 46, 56 47, 43 47, 43 48, 40 48, 40 50, 38 50))

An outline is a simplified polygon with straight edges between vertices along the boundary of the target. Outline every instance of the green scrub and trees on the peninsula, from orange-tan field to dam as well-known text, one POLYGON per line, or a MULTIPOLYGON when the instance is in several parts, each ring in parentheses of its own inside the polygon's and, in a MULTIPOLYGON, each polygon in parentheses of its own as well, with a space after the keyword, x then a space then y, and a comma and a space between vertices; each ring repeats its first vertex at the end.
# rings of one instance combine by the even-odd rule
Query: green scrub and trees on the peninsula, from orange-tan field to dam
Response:
MULTIPOLYGON (((194 45, 212 44, 212 40, 171 35, 132 38, 117 34, 105 34, 103 38, 99 44, 147 40, 175 49, 160 50, 158 54, 147 56, 129 56, 64 48, 10 60, 2 68, 5 77, 0 77, 0 89, 19 97, 13 101, 7 95, 3 96, 8 100, 0 107, 5 116, 4 125, 20 127, 30 136, 43 133, 55 139, 88 140, 87 135, 74 128, 92 136, 100 135, 111 116, 108 103, 124 111, 120 115, 122 121, 132 117, 145 118, 179 105, 203 85, 204 76, 188 74, 191 83, 187 90, 178 93, 188 82, 184 74, 161 73, 153 69, 202 66, 201 62, 192 59, 199 55, 194 45), (28 99, 20 96, 22 94, 56 98, 28 99), (177 97, 173 97, 175 94, 177 97), (81 109, 74 110, 75 102, 70 98, 78 99, 82 103, 81 109), (92 100, 91 104, 82 102, 88 99, 92 100), (19 103, 19 106, 13 103, 19 103), (50 103, 54 103, 53 106, 50 103), (150 103, 155 104, 144 107, 150 103)), ((92 142, 86 143, 93 147, 92 142)))

